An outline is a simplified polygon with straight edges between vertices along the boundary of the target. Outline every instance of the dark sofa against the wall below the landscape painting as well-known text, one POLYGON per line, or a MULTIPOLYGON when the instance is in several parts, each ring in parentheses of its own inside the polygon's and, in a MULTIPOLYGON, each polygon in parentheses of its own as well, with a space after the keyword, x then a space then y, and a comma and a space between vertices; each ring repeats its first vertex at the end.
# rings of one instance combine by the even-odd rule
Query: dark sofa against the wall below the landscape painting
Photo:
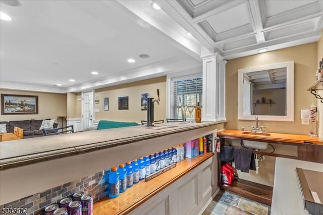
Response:
MULTIPOLYGON (((9 121, 0 122, 0 124, 7 124, 7 132, 14 132, 14 127, 24 129, 24 139, 31 137, 41 137, 44 136, 40 128, 42 120, 19 120, 19 121, 9 121)), ((57 128, 58 124, 54 123, 53 128, 57 128)))

